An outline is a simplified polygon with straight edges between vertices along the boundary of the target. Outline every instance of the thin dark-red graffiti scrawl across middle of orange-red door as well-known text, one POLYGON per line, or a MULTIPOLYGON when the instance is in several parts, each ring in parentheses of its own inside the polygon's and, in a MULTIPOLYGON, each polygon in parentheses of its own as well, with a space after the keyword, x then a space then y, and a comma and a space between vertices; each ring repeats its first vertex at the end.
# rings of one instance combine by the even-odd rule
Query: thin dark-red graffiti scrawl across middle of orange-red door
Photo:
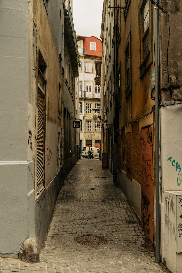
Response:
MULTIPOLYGON (((141 137, 142 139, 143 137, 141 137)), ((151 180, 153 179, 153 162, 150 155, 145 151, 146 150, 146 143, 143 141, 143 145, 141 142, 141 153, 142 153, 142 165, 141 165, 141 172, 142 172, 142 181, 145 185, 145 189, 150 187, 151 180)))

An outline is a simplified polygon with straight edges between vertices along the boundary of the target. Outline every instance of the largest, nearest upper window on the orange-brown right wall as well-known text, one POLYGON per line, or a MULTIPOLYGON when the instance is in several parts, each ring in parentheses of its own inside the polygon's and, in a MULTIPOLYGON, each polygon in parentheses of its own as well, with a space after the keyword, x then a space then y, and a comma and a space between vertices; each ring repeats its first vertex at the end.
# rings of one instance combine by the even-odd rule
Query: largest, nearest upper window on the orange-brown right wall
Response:
POLYGON ((150 0, 139 2, 140 78, 152 63, 152 4, 150 0))

